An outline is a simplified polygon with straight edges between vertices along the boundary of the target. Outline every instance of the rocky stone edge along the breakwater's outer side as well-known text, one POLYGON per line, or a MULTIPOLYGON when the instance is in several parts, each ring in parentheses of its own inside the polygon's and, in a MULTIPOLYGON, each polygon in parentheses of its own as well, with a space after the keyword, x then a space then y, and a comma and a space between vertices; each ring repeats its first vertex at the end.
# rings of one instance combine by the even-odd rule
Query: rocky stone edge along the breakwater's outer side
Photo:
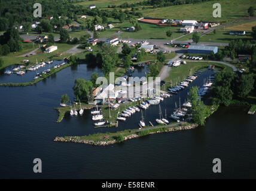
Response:
MULTIPOLYGON (((166 126, 163 127, 159 127, 159 131, 154 131, 154 132, 150 132, 148 134, 156 134, 156 133, 167 133, 167 132, 171 132, 171 131, 182 131, 182 130, 191 130, 194 129, 196 127, 198 127, 199 125, 197 124, 190 124, 187 126, 177 126, 177 127, 170 127, 168 128, 168 130, 164 130, 164 131, 160 131, 161 128, 166 128, 166 126)), ((145 131, 147 131, 150 129, 145 128, 145 131)), ((132 139, 132 138, 137 138, 140 137, 138 134, 130 134, 127 136, 124 136, 124 141, 132 139)), ((93 140, 83 140, 81 139, 80 136, 75 136, 75 137, 56 137, 54 138, 54 141, 58 141, 58 142, 72 142, 72 143, 83 143, 83 144, 91 144, 91 145, 95 145, 95 146, 107 146, 109 144, 114 144, 117 143, 117 140, 109 140, 109 141, 93 141, 93 140)))

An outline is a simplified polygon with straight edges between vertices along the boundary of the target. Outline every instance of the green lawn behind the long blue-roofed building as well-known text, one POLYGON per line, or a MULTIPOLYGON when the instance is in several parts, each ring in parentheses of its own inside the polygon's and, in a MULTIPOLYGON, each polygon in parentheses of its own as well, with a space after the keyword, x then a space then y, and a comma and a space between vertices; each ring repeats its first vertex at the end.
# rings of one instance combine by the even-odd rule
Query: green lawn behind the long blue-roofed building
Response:
POLYGON ((201 42, 228 43, 233 39, 243 39, 243 40, 248 39, 250 41, 250 40, 252 40, 251 32, 246 32, 245 36, 239 36, 239 35, 230 35, 229 31, 217 30, 216 34, 214 34, 214 32, 210 32, 210 33, 200 37, 201 42))

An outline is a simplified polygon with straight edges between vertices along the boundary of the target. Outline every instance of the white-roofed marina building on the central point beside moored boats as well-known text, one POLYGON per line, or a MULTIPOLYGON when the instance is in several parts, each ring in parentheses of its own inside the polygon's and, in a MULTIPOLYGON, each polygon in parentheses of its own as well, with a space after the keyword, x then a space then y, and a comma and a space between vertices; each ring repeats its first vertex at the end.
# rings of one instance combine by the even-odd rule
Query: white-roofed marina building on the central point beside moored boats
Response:
POLYGON ((115 91, 114 88, 114 84, 109 84, 107 87, 102 88, 101 91, 98 91, 98 93, 95 96, 96 103, 104 104, 108 99, 111 100, 117 98, 118 91, 115 91))

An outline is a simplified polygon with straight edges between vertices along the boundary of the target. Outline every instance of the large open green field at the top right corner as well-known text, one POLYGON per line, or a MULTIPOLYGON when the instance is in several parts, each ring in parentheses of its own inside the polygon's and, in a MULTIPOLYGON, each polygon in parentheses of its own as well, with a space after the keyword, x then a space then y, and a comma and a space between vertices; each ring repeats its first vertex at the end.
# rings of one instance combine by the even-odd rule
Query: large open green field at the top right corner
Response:
POLYGON ((175 5, 170 7, 150 8, 139 10, 144 16, 182 19, 182 20, 202 20, 202 21, 228 21, 234 22, 239 19, 249 19, 247 10, 250 6, 256 6, 256 1, 252 0, 219 0, 197 4, 175 5), (214 3, 221 4, 221 17, 212 17, 214 3))

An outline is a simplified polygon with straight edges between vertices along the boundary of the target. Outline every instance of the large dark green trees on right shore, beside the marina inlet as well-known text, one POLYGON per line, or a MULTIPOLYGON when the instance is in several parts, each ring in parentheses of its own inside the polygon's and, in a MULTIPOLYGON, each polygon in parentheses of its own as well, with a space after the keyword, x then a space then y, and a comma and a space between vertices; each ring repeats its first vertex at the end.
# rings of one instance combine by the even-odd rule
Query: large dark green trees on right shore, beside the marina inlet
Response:
POLYGON ((214 104, 229 106, 232 100, 245 99, 254 88, 252 74, 233 74, 233 72, 219 73, 212 88, 214 104))

